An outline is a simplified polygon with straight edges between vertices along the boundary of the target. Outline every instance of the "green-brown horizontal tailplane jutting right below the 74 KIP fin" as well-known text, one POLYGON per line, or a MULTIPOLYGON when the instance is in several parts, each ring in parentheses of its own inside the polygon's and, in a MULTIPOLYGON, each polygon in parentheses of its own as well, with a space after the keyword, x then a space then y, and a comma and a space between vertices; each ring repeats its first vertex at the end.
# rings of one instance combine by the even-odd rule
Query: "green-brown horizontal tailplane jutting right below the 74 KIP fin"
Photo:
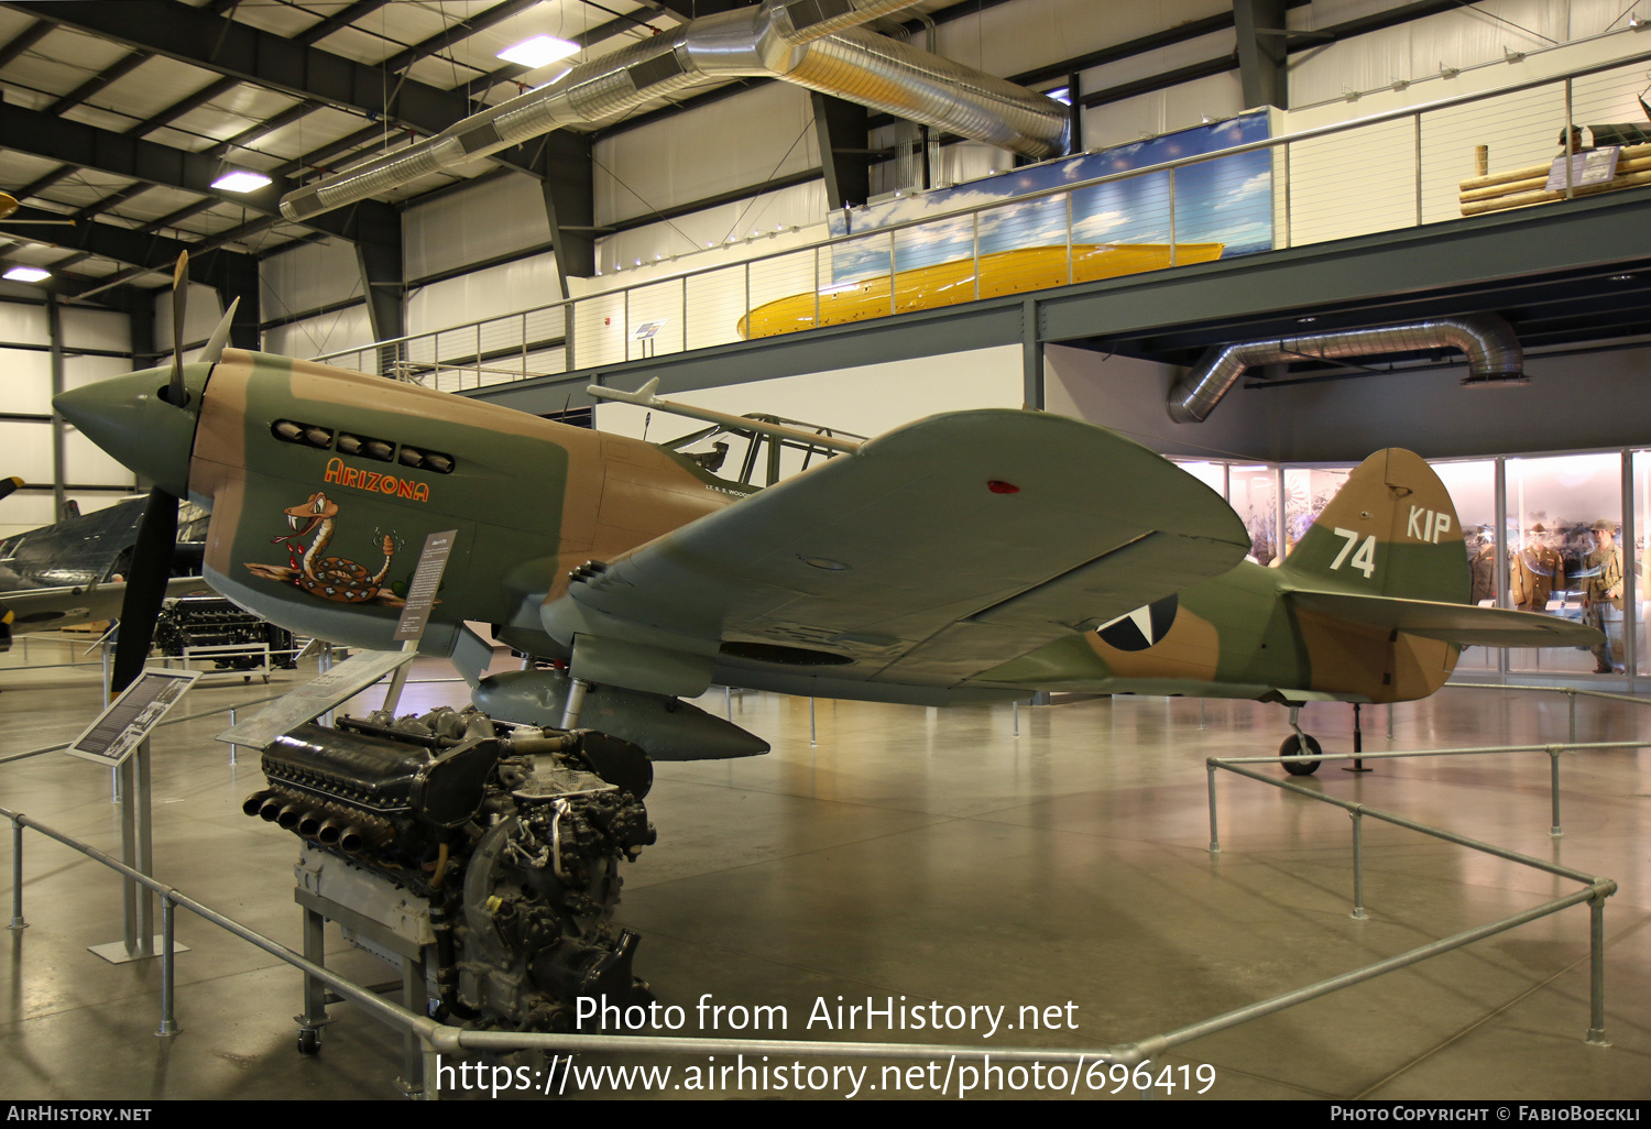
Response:
POLYGON ((1402 631, 1407 635, 1463 647, 1592 647, 1605 640, 1603 632, 1587 624, 1506 607, 1309 589, 1289 591, 1286 598, 1296 607, 1354 624, 1402 631))

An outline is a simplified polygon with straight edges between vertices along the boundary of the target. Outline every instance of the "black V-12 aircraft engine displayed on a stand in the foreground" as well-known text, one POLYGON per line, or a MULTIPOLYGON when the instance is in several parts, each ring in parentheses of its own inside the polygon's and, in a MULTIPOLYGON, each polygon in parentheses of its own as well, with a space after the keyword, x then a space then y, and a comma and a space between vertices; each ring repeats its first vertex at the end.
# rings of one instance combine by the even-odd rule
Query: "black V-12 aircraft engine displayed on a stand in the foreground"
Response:
MULTIPOLYGON (((580 997, 652 1002, 639 938, 613 923, 621 858, 655 838, 637 746, 442 706, 302 725, 263 769, 243 810, 304 840, 300 888, 428 946, 434 1018, 570 1032, 580 997)), ((371 929, 345 936, 395 959, 371 929)))

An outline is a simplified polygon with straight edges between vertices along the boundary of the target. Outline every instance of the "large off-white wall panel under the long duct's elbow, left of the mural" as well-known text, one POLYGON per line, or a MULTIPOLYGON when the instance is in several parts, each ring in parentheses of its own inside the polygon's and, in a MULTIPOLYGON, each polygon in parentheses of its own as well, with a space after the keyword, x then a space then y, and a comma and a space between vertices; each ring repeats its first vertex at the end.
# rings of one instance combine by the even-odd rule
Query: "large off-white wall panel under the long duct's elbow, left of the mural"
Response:
POLYGON ((616 223, 819 168, 821 155, 809 92, 769 83, 604 137, 596 160, 596 223, 616 223))

